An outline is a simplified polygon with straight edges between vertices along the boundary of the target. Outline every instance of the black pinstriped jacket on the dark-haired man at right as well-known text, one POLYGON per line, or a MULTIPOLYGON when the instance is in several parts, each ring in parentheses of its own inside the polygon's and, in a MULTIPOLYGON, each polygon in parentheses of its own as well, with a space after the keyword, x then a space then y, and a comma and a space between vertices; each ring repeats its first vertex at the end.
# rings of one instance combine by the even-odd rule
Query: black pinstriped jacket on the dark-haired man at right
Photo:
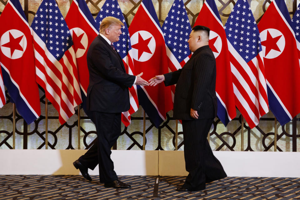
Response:
POLYGON ((174 118, 193 120, 191 108, 198 111, 198 119, 217 116, 216 60, 208 45, 198 48, 182 69, 164 76, 166 86, 177 83, 174 118))

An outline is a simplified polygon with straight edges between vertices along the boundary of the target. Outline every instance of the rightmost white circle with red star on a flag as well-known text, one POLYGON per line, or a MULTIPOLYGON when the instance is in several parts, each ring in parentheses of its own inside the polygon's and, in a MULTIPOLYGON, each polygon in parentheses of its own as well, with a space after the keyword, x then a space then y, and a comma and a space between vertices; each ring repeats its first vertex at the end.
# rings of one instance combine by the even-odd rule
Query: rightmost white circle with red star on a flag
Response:
POLYGON ((279 30, 274 29, 274 28, 267 28, 267 29, 263 30, 262 32, 260 32, 259 35, 260 35, 261 44, 262 44, 262 55, 264 58, 268 58, 268 59, 276 58, 283 52, 284 47, 285 47, 285 38, 284 38, 282 32, 280 32, 279 30), (272 39, 272 38, 267 38, 268 33, 272 38, 281 36, 278 39, 278 41, 276 42, 276 45, 280 51, 274 50, 274 49, 271 49, 271 50, 267 49, 267 47, 263 45, 264 41, 266 41, 267 39, 272 39), (266 55, 266 50, 267 50, 267 55, 266 55))

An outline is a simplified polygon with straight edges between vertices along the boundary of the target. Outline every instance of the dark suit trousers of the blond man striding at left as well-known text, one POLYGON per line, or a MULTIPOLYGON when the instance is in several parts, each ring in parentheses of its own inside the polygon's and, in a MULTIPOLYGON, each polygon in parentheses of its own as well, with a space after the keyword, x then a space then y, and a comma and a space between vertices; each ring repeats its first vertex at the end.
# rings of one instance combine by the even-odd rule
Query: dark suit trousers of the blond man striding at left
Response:
POLYGON ((88 151, 78 158, 79 162, 89 169, 99 165, 99 179, 101 183, 108 183, 118 179, 110 158, 111 147, 121 134, 121 113, 100 113, 92 111, 92 121, 95 123, 97 138, 88 151))

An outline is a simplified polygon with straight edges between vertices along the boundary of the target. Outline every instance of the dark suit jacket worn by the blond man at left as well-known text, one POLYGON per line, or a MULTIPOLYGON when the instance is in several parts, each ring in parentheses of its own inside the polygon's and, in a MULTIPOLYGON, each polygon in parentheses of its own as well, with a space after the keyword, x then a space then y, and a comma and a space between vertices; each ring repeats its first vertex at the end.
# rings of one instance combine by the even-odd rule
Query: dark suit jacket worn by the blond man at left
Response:
POLYGON ((135 76, 126 73, 120 55, 98 35, 87 53, 89 86, 87 109, 102 113, 120 113, 130 108, 128 87, 135 76))

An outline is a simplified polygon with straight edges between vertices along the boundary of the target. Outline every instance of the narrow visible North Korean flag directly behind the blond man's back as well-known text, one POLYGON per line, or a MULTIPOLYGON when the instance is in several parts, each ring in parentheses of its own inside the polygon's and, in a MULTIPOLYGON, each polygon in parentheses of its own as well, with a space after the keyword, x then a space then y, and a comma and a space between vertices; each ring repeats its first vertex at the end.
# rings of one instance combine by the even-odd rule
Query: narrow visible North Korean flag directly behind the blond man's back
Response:
POLYGON ((90 44, 99 33, 99 27, 84 0, 73 0, 65 20, 73 39, 83 102, 82 108, 88 117, 91 118, 91 113, 86 109, 86 96, 89 84, 87 52, 90 44))

